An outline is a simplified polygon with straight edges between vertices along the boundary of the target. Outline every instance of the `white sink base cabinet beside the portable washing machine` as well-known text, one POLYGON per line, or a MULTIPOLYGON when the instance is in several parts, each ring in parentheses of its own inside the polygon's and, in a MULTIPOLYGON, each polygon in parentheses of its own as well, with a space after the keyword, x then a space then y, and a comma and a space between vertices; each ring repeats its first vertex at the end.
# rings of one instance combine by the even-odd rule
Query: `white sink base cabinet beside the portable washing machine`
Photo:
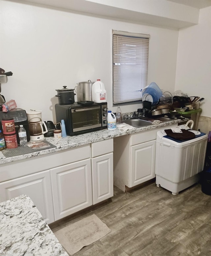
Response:
MULTIPOLYGON (((175 127, 177 124, 169 125, 175 127)), ((155 149, 159 127, 114 138, 114 185, 125 191, 155 177, 155 149)))

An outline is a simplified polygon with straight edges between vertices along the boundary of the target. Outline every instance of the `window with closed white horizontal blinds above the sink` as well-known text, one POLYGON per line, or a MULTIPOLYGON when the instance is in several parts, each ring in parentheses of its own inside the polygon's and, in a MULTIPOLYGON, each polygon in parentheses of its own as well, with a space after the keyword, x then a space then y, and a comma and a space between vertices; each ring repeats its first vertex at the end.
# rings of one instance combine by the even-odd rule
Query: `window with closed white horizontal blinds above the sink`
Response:
POLYGON ((147 85, 150 35, 123 31, 113 34, 113 104, 141 100, 147 85))

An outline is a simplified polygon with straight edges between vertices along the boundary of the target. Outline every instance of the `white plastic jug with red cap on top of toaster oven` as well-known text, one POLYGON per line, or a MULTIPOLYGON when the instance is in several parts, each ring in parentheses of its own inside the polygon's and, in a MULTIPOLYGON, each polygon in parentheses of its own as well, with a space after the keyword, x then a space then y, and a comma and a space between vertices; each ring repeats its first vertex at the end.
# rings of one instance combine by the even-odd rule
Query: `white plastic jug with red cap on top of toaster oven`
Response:
POLYGON ((92 85, 92 101, 96 103, 106 102, 106 89, 104 83, 100 80, 92 85))

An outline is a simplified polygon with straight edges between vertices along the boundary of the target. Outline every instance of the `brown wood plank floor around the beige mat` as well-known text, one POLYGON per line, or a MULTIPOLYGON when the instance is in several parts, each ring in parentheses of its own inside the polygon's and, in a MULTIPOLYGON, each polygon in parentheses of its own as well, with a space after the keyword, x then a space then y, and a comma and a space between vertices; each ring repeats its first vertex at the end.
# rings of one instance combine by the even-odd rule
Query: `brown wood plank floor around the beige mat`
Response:
POLYGON ((111 232, 74 256, 209 256, 211 255, 211 196, 196 184, 178 195, 155 183, 114 197, 94 208, 50 226, 59 230, 96 214, 111 232))

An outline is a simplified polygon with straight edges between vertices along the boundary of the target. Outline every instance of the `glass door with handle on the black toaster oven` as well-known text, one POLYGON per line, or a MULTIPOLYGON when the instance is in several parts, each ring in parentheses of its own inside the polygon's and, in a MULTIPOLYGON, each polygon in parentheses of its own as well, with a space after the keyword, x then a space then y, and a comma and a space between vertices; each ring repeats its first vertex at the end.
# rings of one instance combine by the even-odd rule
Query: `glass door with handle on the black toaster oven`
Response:
POLYGON ((72 109, 73 132, 85 131, 102 126, 101 106, 72 109))

